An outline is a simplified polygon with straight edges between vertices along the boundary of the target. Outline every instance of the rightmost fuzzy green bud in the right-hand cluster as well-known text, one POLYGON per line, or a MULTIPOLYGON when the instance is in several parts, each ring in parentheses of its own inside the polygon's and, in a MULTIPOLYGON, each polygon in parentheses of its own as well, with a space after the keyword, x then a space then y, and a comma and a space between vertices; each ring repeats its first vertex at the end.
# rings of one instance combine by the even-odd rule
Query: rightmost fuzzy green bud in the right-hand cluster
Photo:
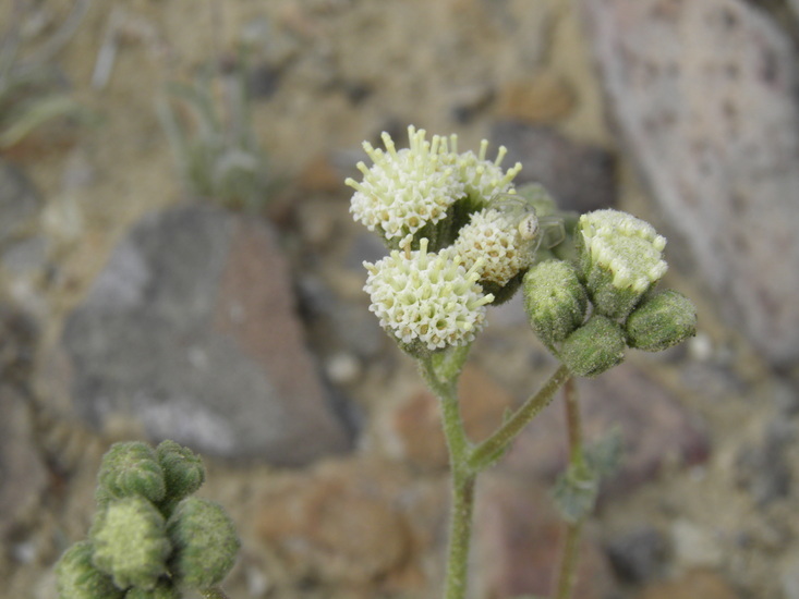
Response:
POLYGON ((626 323, 630 347, 662 352, 697 334, 697 307, 677 291, 643 301, 626 323))

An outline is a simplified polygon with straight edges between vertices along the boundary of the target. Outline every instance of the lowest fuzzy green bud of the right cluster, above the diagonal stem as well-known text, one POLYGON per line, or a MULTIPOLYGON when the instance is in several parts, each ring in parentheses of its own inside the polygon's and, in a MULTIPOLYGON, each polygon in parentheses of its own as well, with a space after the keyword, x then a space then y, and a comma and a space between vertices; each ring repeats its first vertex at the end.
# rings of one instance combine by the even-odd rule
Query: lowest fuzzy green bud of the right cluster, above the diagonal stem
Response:
POLYGON ((625 347, 621 327, 605 316, 594 315, 564 341, 559 357, 574 375, 595 377, 620 364, 625 347))

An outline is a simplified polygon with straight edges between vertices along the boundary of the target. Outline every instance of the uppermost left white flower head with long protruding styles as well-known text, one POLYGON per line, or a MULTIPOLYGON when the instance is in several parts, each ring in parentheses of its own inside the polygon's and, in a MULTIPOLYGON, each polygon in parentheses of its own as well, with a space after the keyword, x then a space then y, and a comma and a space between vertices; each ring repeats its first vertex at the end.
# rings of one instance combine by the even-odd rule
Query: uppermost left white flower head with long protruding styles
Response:
POLYGON ((358 169, 361 183, 348 179, 355 190, 350 205, 354 219, 370 231, 380 230, 387 239, 413 234, 427 223, 444 219, 448 208, 464 196, 447 149, 447 139, 434 135, 428 142, 425 131, 408 127, 410 148, 397 150, 388 133, 383 133, 386 151, 364 142, 363 147, 374 164, 358 169))

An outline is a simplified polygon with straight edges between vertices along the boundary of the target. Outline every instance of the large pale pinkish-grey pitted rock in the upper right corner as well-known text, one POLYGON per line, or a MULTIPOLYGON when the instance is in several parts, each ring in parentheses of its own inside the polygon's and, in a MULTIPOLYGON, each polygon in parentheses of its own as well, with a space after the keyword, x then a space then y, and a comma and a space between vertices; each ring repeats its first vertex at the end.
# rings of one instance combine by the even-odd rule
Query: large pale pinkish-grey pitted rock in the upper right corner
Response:
POLYGON ((790 39, 741 0, 581 4, 609 108, 698 276, 767 359, 792 362, 799 105, 790 39))

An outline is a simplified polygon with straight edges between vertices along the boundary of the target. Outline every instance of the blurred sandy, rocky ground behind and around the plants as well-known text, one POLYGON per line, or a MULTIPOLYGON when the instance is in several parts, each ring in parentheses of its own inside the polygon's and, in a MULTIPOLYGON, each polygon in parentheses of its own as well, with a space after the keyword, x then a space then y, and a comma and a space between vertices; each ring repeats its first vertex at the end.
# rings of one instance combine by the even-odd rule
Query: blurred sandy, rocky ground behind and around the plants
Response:
MULTIPOLYGON (((577 597, 799 598, 795 0, 19 0, 0 48, 35 61, 73 10, 48 65, 82 117, 0 156, 0 597, 56 597, 99 457, 132 438, 205 456, 243 539, 232 597, 437 596, 437 405, 367 311, 384 249, 342 184, 361 140, 413 123, 650 220, 699 305, 690 343, 580 384, 588 437, 617 428, 626 457, 577 597), (246 210, 182 185, 157 119, 202 69, 215 101, 251 93, 269 184, 246 210)), ((470 432, 552 368, 520 303, 496 308, 470 432)), ((547 591, 565 445, 556 403, 481 479, 473 597, 547 591)))

